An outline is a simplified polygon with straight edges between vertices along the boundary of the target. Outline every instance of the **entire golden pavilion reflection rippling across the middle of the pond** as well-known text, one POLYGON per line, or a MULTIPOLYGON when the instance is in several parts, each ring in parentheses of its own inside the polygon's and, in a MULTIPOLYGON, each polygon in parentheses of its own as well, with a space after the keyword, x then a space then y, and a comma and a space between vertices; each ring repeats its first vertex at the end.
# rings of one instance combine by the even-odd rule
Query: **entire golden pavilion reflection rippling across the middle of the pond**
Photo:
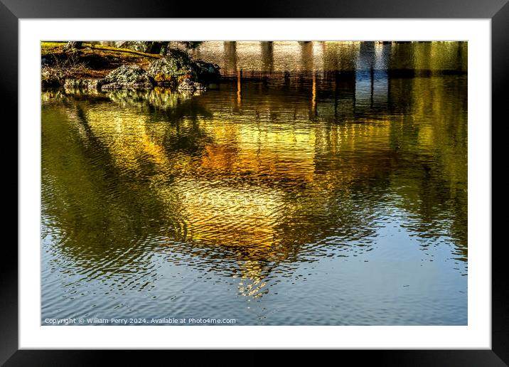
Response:
MULTIPOLYGON (((110 116, 90 107, 87 117, 92 132, 122 172, 143 176, 150 164, 151 190, 159 201, 168 203, 168 223, 177 222, 174 210, 180 208, 178 232, 182 240, 252 248, 269 257, 272 246, 285 241, 284 231, 292 228, 293 221, 306 223, 309 203, 301 200, 312 198, 316 206, 312 215, 326 216, 321 213, 328 200, 323 190, 337 190, 359 175, 380 171, 375 167, 377 161, 369 156, 356 161, 355 171, 342 169, 343 160, 338 156, 334 160, 338 166, 329 159, 326 176, 316 181, 317 167, 318 174, 324 172, 324 166, 317 165, 317 156, 331 151, 348 153, 366 144, 366 139, 369 144, 388 147, 389 135, 387 125, 336 126, 324 131, 311 125, 280 129, 271 123, 255 127, 207 120, 200 127, 200 134, 208 137, 200 156, 172 156, 164 141, 175 133, 168 129, 175 127, 147 124, 135 110, 110 116), (338 176, 331 175, 333 171, 338 176), (176 177, 171 186, 165 180, 168 174, 176 177)), ((189 131, 186 124, 181 122, 179 129, 189 131)))

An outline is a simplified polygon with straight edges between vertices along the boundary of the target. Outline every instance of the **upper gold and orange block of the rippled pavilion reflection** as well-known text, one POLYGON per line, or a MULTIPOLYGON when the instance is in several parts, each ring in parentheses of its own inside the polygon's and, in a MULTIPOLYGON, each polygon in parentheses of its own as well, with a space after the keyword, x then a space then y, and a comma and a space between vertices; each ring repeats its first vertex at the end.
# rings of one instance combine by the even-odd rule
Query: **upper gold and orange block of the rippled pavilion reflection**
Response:
POLYGON ((216 178, 252 174, 259 180, 311 181, 314 172, 315 132, 256 127, 220 121, 205 127, 215 144, 208 144, 200 171, 216 178), (203 171, 206 169, 207 171, 203 171))

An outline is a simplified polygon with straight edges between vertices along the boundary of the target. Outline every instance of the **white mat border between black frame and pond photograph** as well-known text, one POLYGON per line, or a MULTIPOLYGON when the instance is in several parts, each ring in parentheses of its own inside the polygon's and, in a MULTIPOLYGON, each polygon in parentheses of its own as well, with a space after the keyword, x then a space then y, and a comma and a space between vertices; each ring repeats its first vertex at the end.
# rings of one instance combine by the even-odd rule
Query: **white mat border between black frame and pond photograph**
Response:
POLYGON ((18 26, 20 349, 491 349, 491 20, 20 19, 18 26), (468 41, 468 326, 40 326, 39 47, 61 39, 468 41))

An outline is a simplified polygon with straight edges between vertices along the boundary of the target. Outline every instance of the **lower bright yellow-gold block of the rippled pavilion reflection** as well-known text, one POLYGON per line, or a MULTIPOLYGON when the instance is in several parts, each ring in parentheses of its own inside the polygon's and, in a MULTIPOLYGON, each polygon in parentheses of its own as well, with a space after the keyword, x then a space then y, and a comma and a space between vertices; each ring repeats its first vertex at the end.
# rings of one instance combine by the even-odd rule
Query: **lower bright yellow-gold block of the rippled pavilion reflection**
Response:
POLYGON ((282 216, 282 191, 235 188, 208 181, 178 184, 187 218, 187 238, 200 245, 270 246, 282 216), (207 188, 205 192, 196 187, 207 188))

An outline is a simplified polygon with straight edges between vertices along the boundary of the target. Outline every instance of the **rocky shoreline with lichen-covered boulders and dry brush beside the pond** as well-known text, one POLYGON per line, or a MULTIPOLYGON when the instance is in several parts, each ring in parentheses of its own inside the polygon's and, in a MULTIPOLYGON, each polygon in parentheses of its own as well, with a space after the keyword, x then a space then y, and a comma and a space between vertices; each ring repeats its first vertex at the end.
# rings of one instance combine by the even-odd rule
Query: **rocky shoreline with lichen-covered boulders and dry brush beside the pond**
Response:
MULTIPOLYGON (((152 56, 151 62, 145 63, 144 67, 128 60, 110 70, 104 78, 84 78, 84 75, 95 70, 94 65, 87 65, 87 59, 82 55, 79 50, 63 52, 58 55, 59 58, 53 57, 53 63, 48 61, 52 60, 51 55, 45 55, 41 60, 43 89, 61 86, 72 90, 106 91, 168 87, 181 92, 195 92, 205 91, 206 83, 215 83, 220 78, 218 65, 193 60, 186 50, 180 49, 168 49, 161 57, 152 56)), ((105 58, 103 69, 107 70, 107 63, 108 59, 105 58)))

